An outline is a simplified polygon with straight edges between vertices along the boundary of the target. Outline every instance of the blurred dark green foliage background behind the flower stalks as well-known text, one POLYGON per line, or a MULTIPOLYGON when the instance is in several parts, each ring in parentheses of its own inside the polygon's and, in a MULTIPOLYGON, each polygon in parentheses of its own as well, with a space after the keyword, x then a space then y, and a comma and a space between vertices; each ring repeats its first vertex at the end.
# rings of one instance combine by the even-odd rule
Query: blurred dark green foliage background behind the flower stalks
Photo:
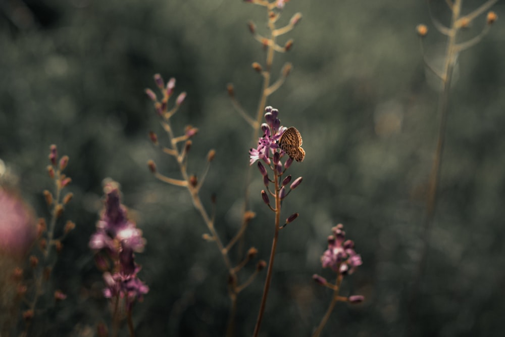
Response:
MULTIPOLYGON (((465 1, 466 13, 482 2, 465 1)), ((445 2, 433 4, 449 21, 445 2)), ((503 5, 493 8, 505 17, 503 5)), ((324 335, 480 335, 505 328, 505 26, 459 57, 449 103, 440 198, 429 241, 419 300, 408 301, 422 251, 424 191, 432 165, 439 86, 427 73, 415 27, 432 28, 426 2, 316 2, 292 0, 287 23, 304 17, 276 55, 293 70, 268 104, 281 122, 296 126, 306 160, 290 173, 304 182, 283 204, 300 216, 281 232, 262 334, 309 335, 331 292, 311 276, 331 227, 343 223, 364 264, 344 280, 342 295, 363 304, 337 305, 324 335), (500 267, 501 266, 501 267, 500 267)), ((163 132, 145 87, 153 74, 177 78, 188 97, 173 118, 176 130, 199 128, 189 171, 201 172, 207 152, 217 156, 201 193, 210 209, 217 194, 217 229, 225 242, 240 225, 248 125, 226 93, 233 82, 244 108, 256 113, 261 77, 250 68, 265 54, 246 26, 266 32, 264 8, 239 0, 4 0, 0 16, 0 158, 19 176, 19 188, 39 216, 48 146, 70 156, 74 199, 65 217, 77 223, 67 238, 54 282, 68 294, 40 335, 92 334, 109 320, 100 294, 102 276, 87 244, 102 207, 102 181, 122 185, 147 238, 137 254, 139 276, 150 287, 134 309, 137 333, 223 335, 229 310, 227 275, 187 191, 153 178, 146 162, 178 177, 176 163, 151 145, 147 132, 163 132)), ((462 37, 477 34, 479 17, 462 37)), ((444 38, 431 29, 430 60, 443 58, 444 38)), ((255 246, 268 260, 273 213, 263 205, 262 179, 252 168, 251 209, 257 212, 242 249, 255 246)), ((236 256, 235 256, 236 257, 236 256)), ((254 263, 247 267, 254 270, 254 263)), ((2 271, 5 273, 6 271, 2 271)), ((250 335, 265 274, 240 294, 236 335, 250 335)))

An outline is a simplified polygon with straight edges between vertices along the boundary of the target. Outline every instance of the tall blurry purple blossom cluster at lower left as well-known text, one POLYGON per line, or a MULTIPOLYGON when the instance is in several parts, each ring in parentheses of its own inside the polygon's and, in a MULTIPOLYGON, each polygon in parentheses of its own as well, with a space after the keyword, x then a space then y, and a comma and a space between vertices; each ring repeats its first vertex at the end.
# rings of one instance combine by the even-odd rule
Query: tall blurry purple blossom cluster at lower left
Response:
MULTIPOLYGON (((131 310, 133 303, 141 300, 149 291, 149 287, 137 277, 140 266, 135 263, 134 256, 134 252, 143 251, 145 239, 142 231, 127 217, 126 207, 121 204, 118 184, 107 183, 104 192, 105 209, 96 224, 96 232, 89 240, 89 247, 107 253, 113 262, 113 269, 104 272, 107 285, 104 296, 124 298, 131 310)), ((97 260, 103 262, 100 256, 97 260)))

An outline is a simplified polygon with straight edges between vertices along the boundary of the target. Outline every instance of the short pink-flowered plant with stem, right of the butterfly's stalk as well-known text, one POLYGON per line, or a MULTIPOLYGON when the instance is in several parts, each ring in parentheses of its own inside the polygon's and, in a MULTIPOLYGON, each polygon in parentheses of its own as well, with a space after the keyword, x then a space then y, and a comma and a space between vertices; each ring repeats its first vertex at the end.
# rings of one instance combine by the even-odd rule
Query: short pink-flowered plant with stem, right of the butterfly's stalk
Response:
POLYGON ((330 268, 336 274, 335 283, 328 282, 324 277, 314 274, 314 280, 323 286, 333 290, 330 305, 323 316, 321 323, 312 337, 318 337, 321 334, 324 326, 330 318, 331 312, 337 302, 348 302, 350 304, 361 303, 364 297, 361 295, 352 295, 349 297, 340 296, 340 285, 345 276, 355 272, 355 270, 363 264, 361 256, 354 250, 354 242, 345 239, 344 226, 338 224, 332 228, 333 234, 328 236, 328 249, 321 256, 323 268, 330 268))

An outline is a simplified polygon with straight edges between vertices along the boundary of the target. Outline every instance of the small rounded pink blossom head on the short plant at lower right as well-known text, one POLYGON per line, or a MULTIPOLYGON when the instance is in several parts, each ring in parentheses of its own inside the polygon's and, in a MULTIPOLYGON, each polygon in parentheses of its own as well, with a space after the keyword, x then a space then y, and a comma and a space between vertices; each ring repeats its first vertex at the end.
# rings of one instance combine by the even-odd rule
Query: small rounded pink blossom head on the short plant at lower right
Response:
POLYGON ((361 256, 354 250, 354 242, 345 240, 343 225, 332 228, 333 235, 328 236, 328 249, 321 257, 323 268, 331 268, 342 275, 352 274, 363 264, 361 256))

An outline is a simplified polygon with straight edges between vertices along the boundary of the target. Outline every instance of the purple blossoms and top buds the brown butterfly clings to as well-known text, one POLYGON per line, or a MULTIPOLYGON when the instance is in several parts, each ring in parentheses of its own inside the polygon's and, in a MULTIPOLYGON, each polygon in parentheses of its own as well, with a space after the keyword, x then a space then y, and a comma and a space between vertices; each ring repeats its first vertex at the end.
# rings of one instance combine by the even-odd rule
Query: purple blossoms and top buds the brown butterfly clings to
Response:
MULTIPOLYGON (((263 136, 260 137, 258 141, 258 147, 256 149, 249 150, 249 165, 254 164, 258 160, 263 160, 267 165, 270 165, 271 161, 274 159, 274 155, 277 153, 274 163, 277 167, 278 172, 282 171, 282 165, 279 159, 282 158, 286 153, 282 151, 279 147, 279 139, 281 138, 287 127, 281 126, 281 121, 278 118, 279 110, 272 107, 265 108, 265 121, 261 125, 263 131, 263 136), (277 152, 280 150, 280 153, 277 152)), ((284 163, 284 168, 287 169, 293 162, 292 158, 289 158, 284 163)))

